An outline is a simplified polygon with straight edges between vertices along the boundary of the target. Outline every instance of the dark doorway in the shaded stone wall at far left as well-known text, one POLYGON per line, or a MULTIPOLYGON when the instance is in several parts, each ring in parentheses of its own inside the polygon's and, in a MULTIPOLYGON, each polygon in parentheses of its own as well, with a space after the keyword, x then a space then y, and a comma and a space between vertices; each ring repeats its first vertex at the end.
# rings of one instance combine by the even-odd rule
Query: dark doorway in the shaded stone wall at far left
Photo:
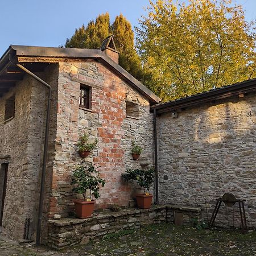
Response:
POLYGON ((8 172, 8 163, 2 163, 0 166, 0 227, 2 226, 3 208, 5 206, 7 172, 8 172))

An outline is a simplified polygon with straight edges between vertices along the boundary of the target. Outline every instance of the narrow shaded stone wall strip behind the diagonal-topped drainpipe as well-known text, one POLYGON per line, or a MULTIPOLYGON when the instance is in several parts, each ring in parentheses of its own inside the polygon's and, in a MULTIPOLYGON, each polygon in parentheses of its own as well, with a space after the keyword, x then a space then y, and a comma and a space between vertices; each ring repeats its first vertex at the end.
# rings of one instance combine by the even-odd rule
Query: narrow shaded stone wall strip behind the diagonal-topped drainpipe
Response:
MULTIPOLYGON (((51 204, 49 203, 51 197, 51 184, 52 184, 52 168, 53 159, 55 156, 55 139, 56 139, 56 115, 57 115, 57 91, 58 91, 58 75, 59 65, 50 64, 43 73, 37 73, 41 79, 46 81, 52 87, 51 97, 51 110, 50 110, 50 124, 49 124, 49 141, 48 141, 48 155, 46 165, 46 180, 44 186, 44 206, 43 206, 43 219, 42 219, 42 239, 47 239, 47 225, 49 209, 51 204)), ((34 218, 38 220, 38 207, 39 207, 39 195, 40 184, 42 178, 42 164, 43 164, 43 150, 44 150, 44 135, 46 129, 46 110, 48 101, 48 90, 40 84, 40 82, 34 80, 32 88, 32 109, 30 115, 30 140, 28 141, 28 160, 31 170, 37 171, 38 180, 37 191, 34 194, 36 205, 34 209, 34 218), (39 143, 40 141, 40 143, 39 143)), ((31 181, 34 182, 34 181, 31 181)), ((32 209, 31 209, 32 210, 32 209)), ((35 228, 31 237, 35 240, 35 228)), ((42 240, 42 241, 43 241, 42 240)))

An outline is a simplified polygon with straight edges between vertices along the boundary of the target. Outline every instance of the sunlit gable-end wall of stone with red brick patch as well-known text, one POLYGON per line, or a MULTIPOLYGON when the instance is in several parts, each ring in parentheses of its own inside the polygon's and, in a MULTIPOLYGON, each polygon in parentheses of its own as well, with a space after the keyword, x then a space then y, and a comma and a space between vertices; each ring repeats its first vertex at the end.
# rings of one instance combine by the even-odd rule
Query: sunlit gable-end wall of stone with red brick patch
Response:
POLYGON ((94 60, 60 62, 50 216, 73 213, 71 175, 82 162, 76 145, 84 133, 92 140, 98 139, 96 149, 85 160, 98 164, 106 180, 96 202, 98 208, 128 205, 133 186, 122 182, 122 172, 128 167, 153 164, 152 114, 148 100, 104 64, 94 60), (92 86, 90 110, 79 108, 80 84, 92 86), (138 118, 126 117, 126 100, 139 105, 138 118), (137 161, 130 154, 133 140, 144 148, 137 161))

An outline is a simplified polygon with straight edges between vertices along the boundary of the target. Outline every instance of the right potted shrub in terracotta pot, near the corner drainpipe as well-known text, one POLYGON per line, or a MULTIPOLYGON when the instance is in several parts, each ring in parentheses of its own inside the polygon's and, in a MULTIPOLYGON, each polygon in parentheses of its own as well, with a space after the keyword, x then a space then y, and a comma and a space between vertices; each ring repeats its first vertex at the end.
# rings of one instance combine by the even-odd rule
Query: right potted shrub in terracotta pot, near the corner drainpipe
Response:
POLYGON ((129 169, 122 174, 122 178, 125 181, 136 181, 138 185, 143 188, 144 193, 136 195, 137 205, 139 208, 148 209, 151 207, 153 196, 145 190, 147 189, 149 191, 150 186, 154 182, 154 174, 154 168, 148 168, 146 170, 129 169))

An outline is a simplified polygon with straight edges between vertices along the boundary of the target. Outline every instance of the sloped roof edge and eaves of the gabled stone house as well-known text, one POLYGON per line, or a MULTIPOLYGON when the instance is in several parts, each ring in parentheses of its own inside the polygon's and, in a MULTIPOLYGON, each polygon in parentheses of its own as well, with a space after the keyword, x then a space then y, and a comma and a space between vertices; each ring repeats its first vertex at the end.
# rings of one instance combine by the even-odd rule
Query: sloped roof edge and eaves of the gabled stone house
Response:
MULTIPOLYGON (((108 55, 100 49, 77 49, 77 48, 56 48, 56 47, 37 47, 37 46, 14 46, 11 45, 0 59, 0 97, 3 93, 8 91, 11 87, 15 86, 15 82, 22 80, 24 73, 16 67, 10 60, 17 59, 18 57, 49 57, 56 59, 60 58, 70 59, 97 59, 112 69, 117 75, 125 80, 134 89, 142 93, 151 105, 160 102, 160 98, 156 96, 151 90, 147 89, 141 82, 135 79, 125 69, 115 63, 108 55), (15 72, 19 71, 19 72, 15 72)), ((39 71, 44 68, 48 63, 33 63, 30 65, 32 72, 39 71)))

